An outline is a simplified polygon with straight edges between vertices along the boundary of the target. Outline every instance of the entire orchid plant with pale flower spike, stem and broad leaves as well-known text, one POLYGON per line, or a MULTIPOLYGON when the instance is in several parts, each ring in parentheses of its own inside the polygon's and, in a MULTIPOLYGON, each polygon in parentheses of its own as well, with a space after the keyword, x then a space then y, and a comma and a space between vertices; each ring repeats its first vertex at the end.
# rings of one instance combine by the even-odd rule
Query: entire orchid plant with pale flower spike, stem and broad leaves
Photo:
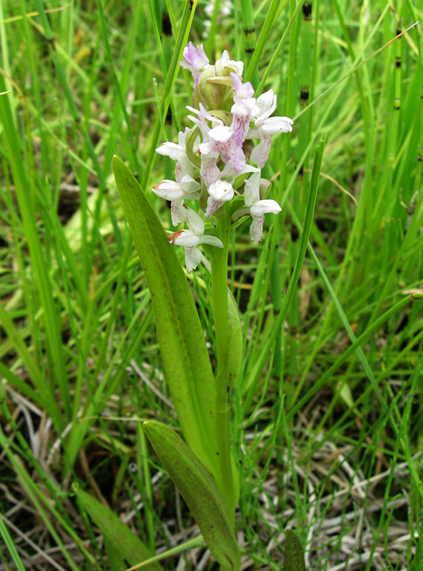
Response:
POLYGON ((239 479, 229 427, 243 337, 228 290, 228 248, 230 232, 247 220, 251 240, 260 243, 265 214, 280 212, 279 204, 267 198, 271 183, 261 171, 272 136, 292 131, 293 121, 272 116, 277 98, 271 89, 255 98, 253 85, 243 82, 243 62, 231 60, 228 51, 210 65, 203 46, 189 43, 180 66, 193 76, 193 103, 187 107, 193 124, 179 133, 178 143, 156 149, 175 161, 175 180, 161 181, 153 192, 170 201, 173 225, 185 227, 166 235, 117 157, 113 171, 151 291, 163 365, 185 442, 153 420, 143 424, 144 430, 221 570, 237 571, 239 479), (188 273, 201 262, 210 270, 214 373, 188 283, 169 243, 185 248, 188 273))

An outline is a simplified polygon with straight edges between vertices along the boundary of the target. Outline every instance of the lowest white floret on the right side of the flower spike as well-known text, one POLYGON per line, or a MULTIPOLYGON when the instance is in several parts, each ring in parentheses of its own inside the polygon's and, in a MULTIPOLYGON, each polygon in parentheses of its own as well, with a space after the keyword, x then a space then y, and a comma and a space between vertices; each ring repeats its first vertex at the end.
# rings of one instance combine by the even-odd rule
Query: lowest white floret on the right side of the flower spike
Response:
POLYGON ((245 181, 244 201, 245 206, 233 213, 232 221, 235 222, 249 214, 253 218, 250 226, 250 238, 258 244, 263 233, 265 214, 277 214, 282 210, 276 201, 260 201, 260 171, 253 173, 248 181, 245 181))

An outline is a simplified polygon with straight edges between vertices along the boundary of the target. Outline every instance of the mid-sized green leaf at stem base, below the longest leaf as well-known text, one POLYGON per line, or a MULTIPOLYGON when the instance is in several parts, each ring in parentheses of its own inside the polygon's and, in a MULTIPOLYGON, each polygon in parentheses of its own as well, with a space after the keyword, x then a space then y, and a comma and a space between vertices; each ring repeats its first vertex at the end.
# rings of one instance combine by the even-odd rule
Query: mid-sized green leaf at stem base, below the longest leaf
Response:
POLYGON ((225 570, 238 571, 240 549, 215 480, 174 430, 153 420, 143 427, 213 556, 225 570))

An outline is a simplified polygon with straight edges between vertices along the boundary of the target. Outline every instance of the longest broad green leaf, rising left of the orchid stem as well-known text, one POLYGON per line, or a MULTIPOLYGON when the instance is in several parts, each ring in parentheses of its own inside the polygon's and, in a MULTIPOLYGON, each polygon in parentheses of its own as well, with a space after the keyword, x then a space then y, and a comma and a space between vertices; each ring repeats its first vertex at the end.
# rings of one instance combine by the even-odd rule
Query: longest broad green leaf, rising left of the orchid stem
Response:
POLYGON ((113 158, 113 173, 151 292, 166 378, 185 440, 216 472, 213 372, 193 296, 163 226, 132 173, 113 158))

